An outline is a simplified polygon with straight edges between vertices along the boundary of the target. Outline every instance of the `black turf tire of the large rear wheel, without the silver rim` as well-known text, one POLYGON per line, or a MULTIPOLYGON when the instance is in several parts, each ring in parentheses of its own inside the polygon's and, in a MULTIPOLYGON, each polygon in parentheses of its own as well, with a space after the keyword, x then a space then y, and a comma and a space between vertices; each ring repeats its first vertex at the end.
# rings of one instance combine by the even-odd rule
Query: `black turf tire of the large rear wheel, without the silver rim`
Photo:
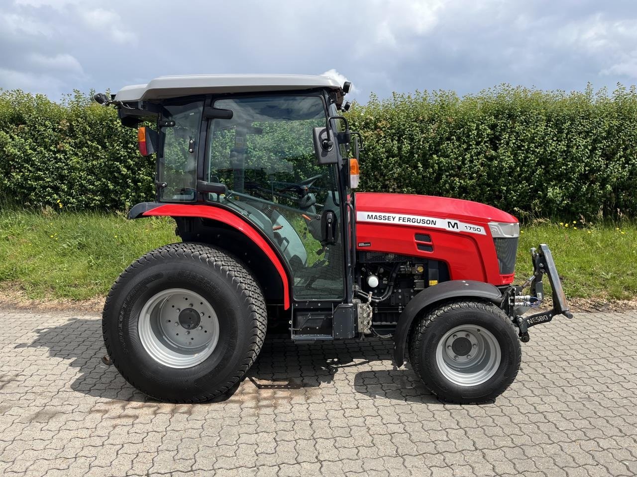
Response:
POLYGON ((196 403, 236 387, 261 350, 266 322, 263 294, 248 270, 224 251, 187 242, 148 252, 118 277, 106 298, 102 331, 111 362, 132 386, 161 401, 196 403), (201 294, 218 316, 217 346, 190 368, 155 361, 138 332, 143 305, 171 287, 201 294))

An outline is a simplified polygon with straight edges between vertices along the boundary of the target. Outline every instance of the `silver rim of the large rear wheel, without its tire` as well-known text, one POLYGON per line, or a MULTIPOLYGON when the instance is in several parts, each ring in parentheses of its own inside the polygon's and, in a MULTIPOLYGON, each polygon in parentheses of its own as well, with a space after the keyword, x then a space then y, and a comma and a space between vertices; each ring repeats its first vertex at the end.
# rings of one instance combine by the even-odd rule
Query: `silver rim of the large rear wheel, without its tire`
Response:
POLYGON ((191 368, 217 347, 215 309, 194 291, 171 288, 155 294, 141 309, 138 324, 144 349, 157 363, 191 368))

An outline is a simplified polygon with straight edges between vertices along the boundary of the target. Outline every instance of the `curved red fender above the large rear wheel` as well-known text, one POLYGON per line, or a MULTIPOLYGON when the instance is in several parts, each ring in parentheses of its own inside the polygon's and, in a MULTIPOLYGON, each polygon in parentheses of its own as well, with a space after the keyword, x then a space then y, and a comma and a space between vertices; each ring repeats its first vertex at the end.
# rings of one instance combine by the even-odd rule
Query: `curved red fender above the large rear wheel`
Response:
POLYGON ((141 217, 166 216, 172 218, 195 217, 205 218, 224 223, 227 226, 238 230, 245 235, 247 240, 253 242, 266 257, 271 261, 278 273, 283 287, 283 308, 290 308, 290 280, 285 271, 285 266, 279 258, 275 249, 268 243, 261 233, 245 219, 233 212, 215 207, 213 205, 202 204, 159 204, 157 202, 142 202, 132 207, 128 214, 129 219, 141 217))

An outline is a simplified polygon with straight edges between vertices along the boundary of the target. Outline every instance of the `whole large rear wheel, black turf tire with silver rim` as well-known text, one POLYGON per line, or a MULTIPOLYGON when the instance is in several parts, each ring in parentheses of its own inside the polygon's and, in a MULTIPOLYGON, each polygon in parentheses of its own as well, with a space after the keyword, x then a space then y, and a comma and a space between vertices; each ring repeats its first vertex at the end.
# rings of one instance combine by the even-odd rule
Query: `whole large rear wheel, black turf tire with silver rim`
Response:
POLYGON ((248 371, 266 332, 261 289, 236 259, 203 244, 166 245, 111 288, 103 334, 134 387, 171 402, 207 401, 248 371))

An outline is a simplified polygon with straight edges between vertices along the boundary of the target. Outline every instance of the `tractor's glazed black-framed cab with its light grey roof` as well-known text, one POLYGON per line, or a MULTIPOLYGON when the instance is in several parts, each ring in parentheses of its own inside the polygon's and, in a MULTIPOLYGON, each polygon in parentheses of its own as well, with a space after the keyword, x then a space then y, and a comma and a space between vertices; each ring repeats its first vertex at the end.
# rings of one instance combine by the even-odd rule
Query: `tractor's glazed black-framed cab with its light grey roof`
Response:
MULTIPOLYGON (((245 219, 283 259, 292 299, 327 304, 352 288, 344 238, 357 137, 339 113, 349 88, 323 76, 169 77, 111 101, 139 127, 140 152, 157 154, 157 204, 209 204, 245 219)), ((180 227, 182 239, 201 226, 180 227)))

